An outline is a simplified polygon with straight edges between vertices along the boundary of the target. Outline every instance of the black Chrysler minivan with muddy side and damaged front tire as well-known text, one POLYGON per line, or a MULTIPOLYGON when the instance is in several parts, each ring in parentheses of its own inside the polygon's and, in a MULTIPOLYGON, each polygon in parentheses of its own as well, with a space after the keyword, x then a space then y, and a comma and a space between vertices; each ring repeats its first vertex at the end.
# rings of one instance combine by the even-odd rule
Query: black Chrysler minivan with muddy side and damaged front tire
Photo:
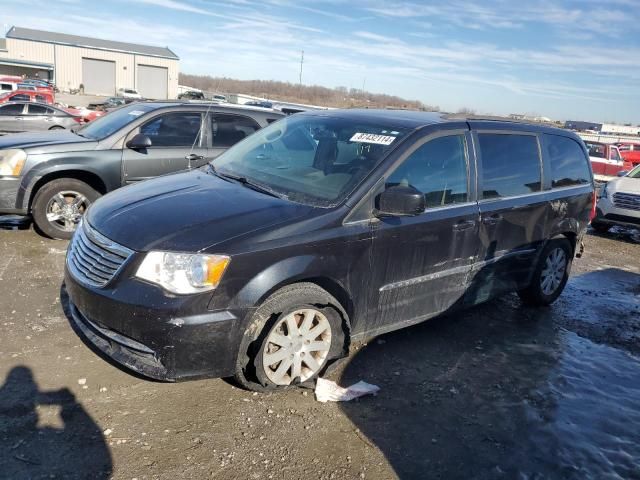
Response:
POLYGON ((69 245, 69 312, 90 344, 152 378, 297 384, 354 340, 505 292, 550 304, 594 197, 567 131, 302 113, 95 202, 69 245))

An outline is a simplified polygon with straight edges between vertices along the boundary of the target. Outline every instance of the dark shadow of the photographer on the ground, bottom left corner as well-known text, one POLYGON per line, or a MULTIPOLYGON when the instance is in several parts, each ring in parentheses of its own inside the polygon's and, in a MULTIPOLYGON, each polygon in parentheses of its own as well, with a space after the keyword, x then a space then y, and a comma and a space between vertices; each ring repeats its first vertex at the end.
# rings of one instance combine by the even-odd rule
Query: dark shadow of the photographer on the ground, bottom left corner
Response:
POLYGON ((0 472, 11 479, 106 479, 112 460, 73 393, 40 391, 31 370, 18 366, 0 387, 0 472))

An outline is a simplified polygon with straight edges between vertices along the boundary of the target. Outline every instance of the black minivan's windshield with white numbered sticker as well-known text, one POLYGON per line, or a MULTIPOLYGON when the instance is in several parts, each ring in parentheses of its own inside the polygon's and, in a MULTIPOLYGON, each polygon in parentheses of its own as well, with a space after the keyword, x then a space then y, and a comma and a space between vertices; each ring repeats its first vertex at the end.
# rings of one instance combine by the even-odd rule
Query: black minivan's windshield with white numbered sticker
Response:
POLYGON ((408 129, 321 115, 272 123, 216 158, 220 175, 308 205, 337 205, 407 135, 408 129))

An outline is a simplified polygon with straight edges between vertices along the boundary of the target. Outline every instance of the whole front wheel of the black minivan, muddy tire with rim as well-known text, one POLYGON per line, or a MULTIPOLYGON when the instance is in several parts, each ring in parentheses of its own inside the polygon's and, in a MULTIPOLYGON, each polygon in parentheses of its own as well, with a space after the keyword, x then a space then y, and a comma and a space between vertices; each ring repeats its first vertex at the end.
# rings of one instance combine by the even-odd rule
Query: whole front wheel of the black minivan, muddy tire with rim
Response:
POLYGON ((253 314, 235 378, 258 392, 311 382, 348 351, 346 325, 346 312, 327 291, 312 283, 284 287, 253 314))

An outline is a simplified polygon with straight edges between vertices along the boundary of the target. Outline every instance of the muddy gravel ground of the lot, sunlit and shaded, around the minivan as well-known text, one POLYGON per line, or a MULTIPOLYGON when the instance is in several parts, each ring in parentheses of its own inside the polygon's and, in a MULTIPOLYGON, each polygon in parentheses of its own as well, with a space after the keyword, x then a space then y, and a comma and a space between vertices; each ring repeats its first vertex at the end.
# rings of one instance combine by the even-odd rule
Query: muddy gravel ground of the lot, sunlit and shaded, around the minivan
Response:
POLYGON ((0 231, 0 477, 640 478, 640 243, 585 244, 552 307, 372 340, 332 378, 379 395, 321 404, 115 368, 63 313, 66 243, 0 231))

